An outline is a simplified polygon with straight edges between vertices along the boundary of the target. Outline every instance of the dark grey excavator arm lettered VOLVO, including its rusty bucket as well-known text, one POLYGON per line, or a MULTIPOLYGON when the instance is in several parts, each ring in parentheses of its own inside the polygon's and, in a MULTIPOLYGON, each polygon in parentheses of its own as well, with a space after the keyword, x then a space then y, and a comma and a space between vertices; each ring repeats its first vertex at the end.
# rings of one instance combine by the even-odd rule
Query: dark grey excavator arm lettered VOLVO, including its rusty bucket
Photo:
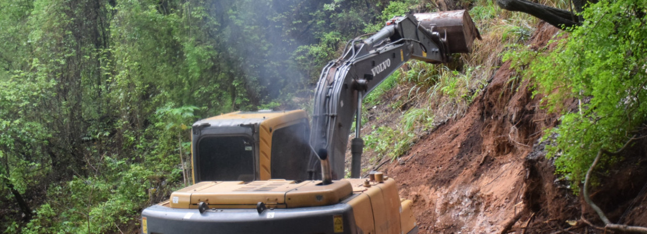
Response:
POLYGON ((311 145, 318 150, 322 180, 344 177, 346 145, 357 119, 351 144, 351 177, 359 178, 364 142, 359 138, 362 99, 409 59, 446 63, 450 54, 471 52, 479 32, 468 13, 409 14, 395 17, 367 39, 349 41, 344 54, 328 63, 317 83, 311 145))

